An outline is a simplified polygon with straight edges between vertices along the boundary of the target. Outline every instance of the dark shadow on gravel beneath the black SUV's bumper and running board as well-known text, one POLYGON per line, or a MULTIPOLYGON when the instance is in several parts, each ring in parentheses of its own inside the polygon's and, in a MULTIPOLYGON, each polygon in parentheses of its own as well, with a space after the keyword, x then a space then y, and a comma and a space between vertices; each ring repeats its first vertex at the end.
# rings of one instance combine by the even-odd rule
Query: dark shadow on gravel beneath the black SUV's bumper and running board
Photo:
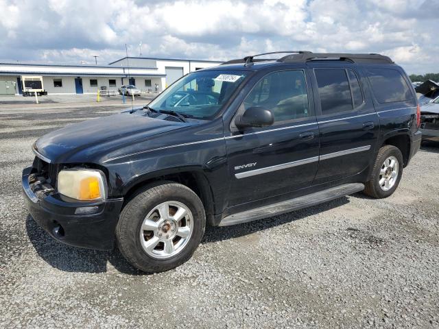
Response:
MULTIPOLYGON (((202 243, 214 243, 234 239, 254 232, 267 230, 275 226, 297 221, 305 217, 316 215, 319 212, 331 210, 344 204, 348 204, 347 197, 340 197, 331 202, 318 206, 288 212, 283 215, 276 215, 268 219, 260 219, 249 223, 241 223, 235 226, 213 227, 208 226, 202 243)), ((26 230, 29 241, 34 246, 38 255, 51 267, 66 272, 104 273, 108 271, 110 263, 117 271, 132 276, 148 275, 132 267, 123 258, 119 249, 115 247, 112 251, 104 252, 91 249, 83 249, 64 245, 53 239, 49 234, 40 228, 31 215, 27 215, 26 230)))

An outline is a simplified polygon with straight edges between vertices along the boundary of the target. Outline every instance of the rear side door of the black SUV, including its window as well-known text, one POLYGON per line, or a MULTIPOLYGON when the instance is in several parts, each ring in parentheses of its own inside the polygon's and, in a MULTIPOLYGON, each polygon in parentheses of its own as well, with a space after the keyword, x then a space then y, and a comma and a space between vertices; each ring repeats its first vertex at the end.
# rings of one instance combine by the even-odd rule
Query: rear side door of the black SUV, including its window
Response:
POLYGON ((320 130, 320 161, 313 184, 366 171, 375 154, 379 117, 357 66, 311 63, 320 130), (326 65, 327 66, 327 65, 326 65))

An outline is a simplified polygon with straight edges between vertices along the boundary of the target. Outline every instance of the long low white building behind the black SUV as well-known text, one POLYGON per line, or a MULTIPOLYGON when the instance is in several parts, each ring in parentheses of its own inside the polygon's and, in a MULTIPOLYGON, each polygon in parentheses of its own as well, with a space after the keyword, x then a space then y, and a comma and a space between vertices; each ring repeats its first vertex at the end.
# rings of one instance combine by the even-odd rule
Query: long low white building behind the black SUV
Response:
POLYGON ((91 94, 105 87, 115 90, 134 84, 144 92, 161 92, 187 73, 216 66, 210 60, 165 58, 121 58, 108 65, 52 65, 0 63, 0 82, 16 82, 16 95, 22 93, 21 76, 39 75, 48 94, 91 94))

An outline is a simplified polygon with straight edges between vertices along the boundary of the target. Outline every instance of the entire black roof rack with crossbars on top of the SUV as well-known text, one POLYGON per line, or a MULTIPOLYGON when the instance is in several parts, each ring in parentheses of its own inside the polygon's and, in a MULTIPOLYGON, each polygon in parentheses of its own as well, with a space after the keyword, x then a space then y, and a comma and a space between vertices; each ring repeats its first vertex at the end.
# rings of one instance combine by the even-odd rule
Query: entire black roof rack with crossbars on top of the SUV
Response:
MULTIPOLYGON (((275 51, 272 53, 290 53, 287 56, 278 58, 277 62, 283 63, 305 63, 311 60, 346 60, 353 63, 369 63, 369 64, 394 64, 394 62, 388 57, 379 55, 378 53, 312 53, 311 51, 275 51)), ((262 55, 270 55, 272 53, 260 53, 258 55, 246 56, 238 60, 229 60, 222 64, 239 64, 245 63, 246 65, 253 62, 262 62, 273 59, 256 59, 254 57, 262 55)))

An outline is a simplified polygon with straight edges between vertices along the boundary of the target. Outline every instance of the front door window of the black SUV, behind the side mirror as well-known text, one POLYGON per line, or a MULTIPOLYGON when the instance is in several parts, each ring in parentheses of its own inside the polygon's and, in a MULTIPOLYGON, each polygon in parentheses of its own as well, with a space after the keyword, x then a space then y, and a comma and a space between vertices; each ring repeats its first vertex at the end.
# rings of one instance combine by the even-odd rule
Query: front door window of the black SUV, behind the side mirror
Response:
POLYGON ((244 101, 244 108, 261 106, 274 115, 274 123, 309 116, 307 84, 303 71, 281 71, 265 75, 244 101))

